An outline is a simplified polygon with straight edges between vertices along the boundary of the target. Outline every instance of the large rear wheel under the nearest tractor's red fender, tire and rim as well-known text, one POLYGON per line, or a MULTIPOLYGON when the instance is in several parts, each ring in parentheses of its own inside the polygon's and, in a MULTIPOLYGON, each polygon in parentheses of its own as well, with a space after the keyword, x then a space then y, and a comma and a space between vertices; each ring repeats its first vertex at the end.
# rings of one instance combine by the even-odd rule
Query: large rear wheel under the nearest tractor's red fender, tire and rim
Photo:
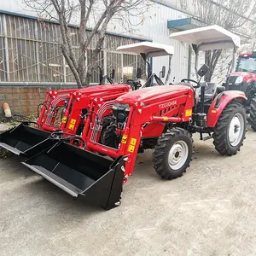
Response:
POLYGON ((238 102, 231 102, 224 108, 213 131, 213 144, 218 153, 236 154, 245 138, 247 115, 238 102))

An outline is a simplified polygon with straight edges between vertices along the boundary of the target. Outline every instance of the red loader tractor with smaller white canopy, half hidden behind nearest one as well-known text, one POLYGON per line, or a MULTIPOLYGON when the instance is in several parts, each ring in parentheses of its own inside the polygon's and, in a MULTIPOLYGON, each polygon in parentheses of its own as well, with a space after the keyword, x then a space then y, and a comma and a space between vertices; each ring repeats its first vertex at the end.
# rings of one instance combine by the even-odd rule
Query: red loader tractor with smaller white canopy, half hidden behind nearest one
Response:
MULTIPOLYGON (((149 42, 124 45, 118 49, 141 53, 147 62, 149 57, 155 56, 169 55, 172 58, 174 52, 172 46, 149 42)), ((6 148, 15 154, 26 154, 29 157, 30 148, 45 140, 45 145, 54 144, 56 136, 64 136, 67 141, 70 136, 80 136, 82 134, 79 143, 70 139, 71 143, 75 142, 79 145, 81 143, 86 144, 86 140, 90 137, 93 141, 101 142, 101 132, 108 125, 108 115, 111 113, 109 109, 111 110, 115 98, 130 90, 152 86, 154 85, 152 84, 153 79, 158 81, 159 85, 164 84, 156 74, 152 73, 149 62, 148 80, 143 85, 137 80, 129 80, 128 84, 113 84, 114 70, 108 77, 103 76, 102 69, 100 67, 99 69, 100 84, 104 84, 106 79, 110 84, 84 89, 47 91, 44 102, 38 105, 38 120, 36 123, 26 120, 15 129, 3 133, 0 136, 0 147, 6 148), (32 128, 30 124, 37 127, 32 128), (92 129, 90 129, 90 125, 93 125, 92 129), (50 133, 52 132, 57 132, 57 134, 51 136, 50 133)), ((165 73, 162 72, 162 77, 164 76, 165 73)))

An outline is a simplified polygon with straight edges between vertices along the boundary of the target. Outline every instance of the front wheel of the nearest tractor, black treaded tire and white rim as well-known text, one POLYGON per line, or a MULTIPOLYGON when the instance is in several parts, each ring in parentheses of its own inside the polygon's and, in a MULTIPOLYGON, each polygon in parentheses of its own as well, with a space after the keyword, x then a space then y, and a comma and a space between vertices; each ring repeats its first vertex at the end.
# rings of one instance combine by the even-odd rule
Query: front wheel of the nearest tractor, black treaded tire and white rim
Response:
POLYGON ((181 177, 189 167, 192 154, 191 133, 182 128, 171 129, 154 146, 154 170, 165 179, 181 177))

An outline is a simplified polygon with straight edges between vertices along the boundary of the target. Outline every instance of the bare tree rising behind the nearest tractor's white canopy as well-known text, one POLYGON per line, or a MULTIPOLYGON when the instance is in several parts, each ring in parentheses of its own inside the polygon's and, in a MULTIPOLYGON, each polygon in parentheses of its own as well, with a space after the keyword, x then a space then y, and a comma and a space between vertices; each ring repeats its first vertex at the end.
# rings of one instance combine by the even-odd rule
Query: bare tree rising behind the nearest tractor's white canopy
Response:
MULTIPOLYGON (((218 25, 239 35, 251 34, 255 27, 254 13, 256 2, 251 0, 180 0, 184 9, 189 9, 191 15, 198 19, 198 25, 218 25)), ((206 81, 211 81, 212 74, 217 67, 222 49, 207 50, 205 63, 210 67, 206 81)))

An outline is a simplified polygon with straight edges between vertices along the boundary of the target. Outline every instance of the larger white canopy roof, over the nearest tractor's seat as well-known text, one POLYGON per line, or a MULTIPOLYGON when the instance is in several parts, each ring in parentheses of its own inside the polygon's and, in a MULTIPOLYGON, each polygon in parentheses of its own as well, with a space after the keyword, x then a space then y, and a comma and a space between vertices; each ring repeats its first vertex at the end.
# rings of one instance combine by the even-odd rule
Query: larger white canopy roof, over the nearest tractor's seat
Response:
POLYGON ((240 37, 218 25, 174 32, 170 38, 187 44, 195 44, 198 50, 240 47, 240 37))

